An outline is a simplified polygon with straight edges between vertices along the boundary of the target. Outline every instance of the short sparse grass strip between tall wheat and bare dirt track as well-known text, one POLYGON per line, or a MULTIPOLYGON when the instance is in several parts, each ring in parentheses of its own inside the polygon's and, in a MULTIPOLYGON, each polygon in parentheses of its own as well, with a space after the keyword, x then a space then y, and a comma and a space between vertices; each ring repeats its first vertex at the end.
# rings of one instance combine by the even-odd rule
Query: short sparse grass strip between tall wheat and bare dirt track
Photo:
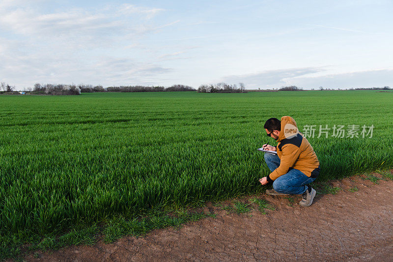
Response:
MULTIPOLYGON (((391 169, 391 168, 389 168, 391 169)), ((381 178, 376 178, 372 173, 379 173, 385 180, 393 180, 393 173, 389 170, 376 170, 373 172, 357 173, 353 175, 364 175, 364 180, 370 180, 373 183, 378 183, 381 178)), ((353 176, 351 175, 351 176, 353 176)), ((350 176, 346 176, 350 177, 350 176)), ((343 177, 343 178, 346 178, 343 177)), ((318 181, 312 183, 313 186, 318 187, 319 194, 336 194, 340 188, 329 185, 330 180, 318 181)), ((263 191, 265 187, 261 187, 263 191)), ((357 191, 350 188, 350 192, 357 191)), ((218 199, 222 201, 225 199, 218 199)), ((268 202, 261 201, 256 198, 250 199, 251 203, 257 203, 259 210, 266 213, 265 209, 275 210, 268 202)), ((208 201, 208 202, 215 202, 208 201)), ((57 250, 70 245, 94 245, 99 236, 102 236, 104 242, 111 243, 123 236, 143 236, 154 229, 167 227, 181 227, 183 224, 191 221, 197 221, 206 217, 215 217, 214 213, 196 212, 195 208, 203 206, 203 203, 185 208, 177 208, 174 210, 151 210, 139 217, 133 219, 126 219, 124 217, 115 217, 108 220, 93 223, 92 225, 80 224, 74 226, 65 234, 48 234, 45 236, 27 234, 26 232, 19 232, 10 236, 0 235, 0 261, 6 259, 14 259, 15 261, 23 261, 23 256, 36 250, 57 250)), ((248 213, 250 209, 244 203, 235 202, 233 207, 223 207, 228 212, 235 212, 237 214, 248 213)))

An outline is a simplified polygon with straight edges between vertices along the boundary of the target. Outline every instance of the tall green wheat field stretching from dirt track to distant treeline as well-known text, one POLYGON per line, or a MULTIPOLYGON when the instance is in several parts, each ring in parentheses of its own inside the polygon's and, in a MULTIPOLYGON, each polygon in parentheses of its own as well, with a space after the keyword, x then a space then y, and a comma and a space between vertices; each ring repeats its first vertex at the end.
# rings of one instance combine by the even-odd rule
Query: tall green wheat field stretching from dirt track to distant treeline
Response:
POLYGON ((275 145, 263 124, 284 115, 300 131, 316 125, 308 139, 321 163, 317 181, 393 167, 393 93, 0 96, 3 257, 11 242, 77 225, 261 192, 258 178, 270 172, 256 149, 275 145), (359 137, 317 138, 319 125, 356 125, 359 137), (363 125, 374 126, 372 138, 361 136, 363 125))

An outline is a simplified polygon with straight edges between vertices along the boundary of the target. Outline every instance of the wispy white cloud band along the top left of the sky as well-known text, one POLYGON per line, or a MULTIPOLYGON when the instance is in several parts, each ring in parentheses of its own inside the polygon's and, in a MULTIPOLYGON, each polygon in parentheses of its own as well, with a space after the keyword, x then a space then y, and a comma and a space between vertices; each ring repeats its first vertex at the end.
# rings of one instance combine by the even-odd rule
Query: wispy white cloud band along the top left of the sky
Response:
MULTIPOLYGON (((23 6, 23 5, 22 5, 23 6)), ((0 9, 0 26, 15 34, 34 38, 59 35, 85 36, 98 34, 143 33, 168 25, 149 26, 144 22, 164 9, 145 8, 135 5, 112 6, 112 8, 89 11, 81 8, 63 12, 42 13, 30 5, 24 7, 7 5, 0 9), (137 19, 130 15, 138 15, 137 19)))

